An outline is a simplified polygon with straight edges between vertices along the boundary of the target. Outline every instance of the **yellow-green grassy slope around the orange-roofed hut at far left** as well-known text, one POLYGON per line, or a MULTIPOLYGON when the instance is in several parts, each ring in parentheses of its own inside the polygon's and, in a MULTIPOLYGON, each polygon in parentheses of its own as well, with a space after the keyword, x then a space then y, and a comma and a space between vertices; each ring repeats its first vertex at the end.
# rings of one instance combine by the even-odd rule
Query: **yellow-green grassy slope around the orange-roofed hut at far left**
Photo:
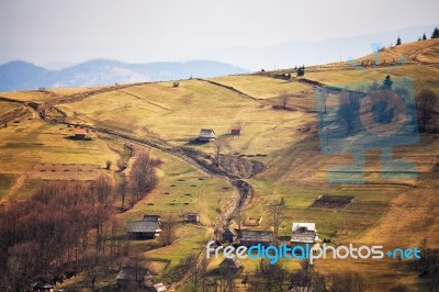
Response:
POLYGON ((67 139, 72 131, 35 119, 0 130, 0 186, 9 188, 9 191, 7 187, 1 191, 2 202, 11 198, 24 199, 32 193, 37 182, 26 183, 26 180, 36 164, 91 164, 103 168, 108 159, 117 159, 93 133, 90 133, 92 141, 67 139), (21 187, 25 189, 23 192, 21 187))

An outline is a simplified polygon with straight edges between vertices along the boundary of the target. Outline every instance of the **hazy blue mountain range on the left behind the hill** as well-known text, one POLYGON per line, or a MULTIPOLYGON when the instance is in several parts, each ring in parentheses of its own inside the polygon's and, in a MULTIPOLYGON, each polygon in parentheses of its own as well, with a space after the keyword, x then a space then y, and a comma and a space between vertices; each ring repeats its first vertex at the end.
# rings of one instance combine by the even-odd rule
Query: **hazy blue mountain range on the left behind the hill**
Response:
POLYGON ((57 87, 89 87, 142 81, 166 81, 248 72, 247 69, 213 60, 130 64, 93 59, 60 70, 48 70, 14 60, 0 66, 0 91, 57 87))

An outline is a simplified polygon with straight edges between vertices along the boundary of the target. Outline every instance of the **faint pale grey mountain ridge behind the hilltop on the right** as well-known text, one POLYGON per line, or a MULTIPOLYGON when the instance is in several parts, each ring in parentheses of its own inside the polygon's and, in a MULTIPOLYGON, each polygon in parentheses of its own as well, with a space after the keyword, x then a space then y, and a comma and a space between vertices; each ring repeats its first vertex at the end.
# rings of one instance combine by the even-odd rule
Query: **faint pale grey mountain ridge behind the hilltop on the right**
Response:
MULTIPOLYGON (((346 25, 349 25, 349 23, 346 25)), ((294 68, 294 66, 302 65, 322 65, 339 61, 340 59, 346 61, 349 57, 359 58, 369 55, 372 53, 373 44, 381 43, 382 46, 389 47, 390 45, 395 45, 398 36, 403 44, 417 41, 424 33, 426 33, 427 37, 430 37, 434 27, 434 25, 417 25, 403 30, 316 42, 297 41, 263 47, 233 47, 204 52, 190 58, 238 64, 255 71, 294 68)))

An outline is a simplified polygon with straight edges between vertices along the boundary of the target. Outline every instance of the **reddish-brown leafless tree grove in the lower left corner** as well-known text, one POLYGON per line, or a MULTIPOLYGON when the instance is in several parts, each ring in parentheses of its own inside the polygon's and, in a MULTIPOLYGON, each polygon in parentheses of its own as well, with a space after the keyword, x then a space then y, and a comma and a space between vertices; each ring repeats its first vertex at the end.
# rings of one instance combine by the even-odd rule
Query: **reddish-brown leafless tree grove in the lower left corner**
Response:
POLYGON ((90 285, 127 254, 125 231, 114 218, 115 193, 134 204, 157 184, 160 161, 140 153, 128 179, 44 183, 31 199, 0 207, 0 287, 29 291, 35 281, 86 271, 90 285))

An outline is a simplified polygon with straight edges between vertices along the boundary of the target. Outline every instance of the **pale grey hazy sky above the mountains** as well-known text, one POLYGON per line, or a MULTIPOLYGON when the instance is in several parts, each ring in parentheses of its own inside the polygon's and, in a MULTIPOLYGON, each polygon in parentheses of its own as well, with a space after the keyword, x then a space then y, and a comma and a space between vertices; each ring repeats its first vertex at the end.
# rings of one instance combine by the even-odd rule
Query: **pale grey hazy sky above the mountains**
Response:
POLYGON ((1 0, 0 63, 187 60, 211 49, 435 25, 438 11, 438 0, 1 0))

